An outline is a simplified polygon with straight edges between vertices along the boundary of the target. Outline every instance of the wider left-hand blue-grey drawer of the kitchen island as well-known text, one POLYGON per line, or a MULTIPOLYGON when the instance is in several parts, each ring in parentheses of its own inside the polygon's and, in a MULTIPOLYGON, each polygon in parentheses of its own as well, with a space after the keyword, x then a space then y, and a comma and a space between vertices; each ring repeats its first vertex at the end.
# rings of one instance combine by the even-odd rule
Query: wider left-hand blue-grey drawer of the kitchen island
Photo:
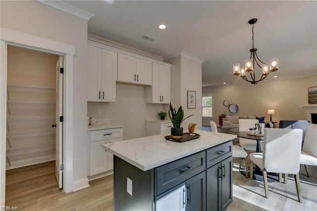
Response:
POLYGON ((185 182, 206 169, 205 151, 155 168, 155 195, 185 182))

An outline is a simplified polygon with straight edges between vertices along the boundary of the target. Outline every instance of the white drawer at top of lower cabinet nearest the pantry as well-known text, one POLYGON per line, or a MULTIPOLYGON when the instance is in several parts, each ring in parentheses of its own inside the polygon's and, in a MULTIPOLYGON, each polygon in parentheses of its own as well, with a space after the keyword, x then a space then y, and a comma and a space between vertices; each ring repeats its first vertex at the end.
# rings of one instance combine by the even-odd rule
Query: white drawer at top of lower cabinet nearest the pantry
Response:
POLYGON ((94 142, 94 141, 108 140, 108 139, 121 138, 121 137, 123 137, 123 129, 113 128, 113 129, 90 131, 89 140, 90 142, 94 142))

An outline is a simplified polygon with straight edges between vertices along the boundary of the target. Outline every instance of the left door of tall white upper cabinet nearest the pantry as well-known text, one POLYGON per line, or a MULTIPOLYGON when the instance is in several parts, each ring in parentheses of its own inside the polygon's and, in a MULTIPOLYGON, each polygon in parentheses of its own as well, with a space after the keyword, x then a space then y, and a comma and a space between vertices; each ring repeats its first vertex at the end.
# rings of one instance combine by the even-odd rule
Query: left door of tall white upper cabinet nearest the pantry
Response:
POLYGON ((88 46, 88 98, 87 101, 100 101, 102 49, 88 46))

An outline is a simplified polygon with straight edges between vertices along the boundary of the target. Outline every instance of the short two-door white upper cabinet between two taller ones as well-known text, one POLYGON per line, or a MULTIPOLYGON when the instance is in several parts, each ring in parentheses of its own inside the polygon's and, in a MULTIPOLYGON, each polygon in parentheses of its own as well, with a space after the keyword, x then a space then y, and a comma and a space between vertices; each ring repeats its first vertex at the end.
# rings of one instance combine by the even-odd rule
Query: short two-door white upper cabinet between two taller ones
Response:
POLYGON ((118 53, 119 82, 152 85, 152 62, 118 53))

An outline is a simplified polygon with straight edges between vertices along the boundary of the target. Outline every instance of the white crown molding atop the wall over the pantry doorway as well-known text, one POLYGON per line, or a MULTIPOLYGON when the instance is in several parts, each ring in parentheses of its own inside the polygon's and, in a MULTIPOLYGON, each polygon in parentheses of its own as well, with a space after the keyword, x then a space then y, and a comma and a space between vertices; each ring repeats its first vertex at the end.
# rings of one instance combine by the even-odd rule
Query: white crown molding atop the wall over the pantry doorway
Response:
POLYGON ((77 17, 83 18, 85 20, 89 20, 90 18, 95 16, 94 14, 78 9, 74 6, 61 2, 59 0, 36 0, 36 1, 46 4, 48 6, 52 6, 55 9, 59 9, 61 11, 67 12, 77 17))

